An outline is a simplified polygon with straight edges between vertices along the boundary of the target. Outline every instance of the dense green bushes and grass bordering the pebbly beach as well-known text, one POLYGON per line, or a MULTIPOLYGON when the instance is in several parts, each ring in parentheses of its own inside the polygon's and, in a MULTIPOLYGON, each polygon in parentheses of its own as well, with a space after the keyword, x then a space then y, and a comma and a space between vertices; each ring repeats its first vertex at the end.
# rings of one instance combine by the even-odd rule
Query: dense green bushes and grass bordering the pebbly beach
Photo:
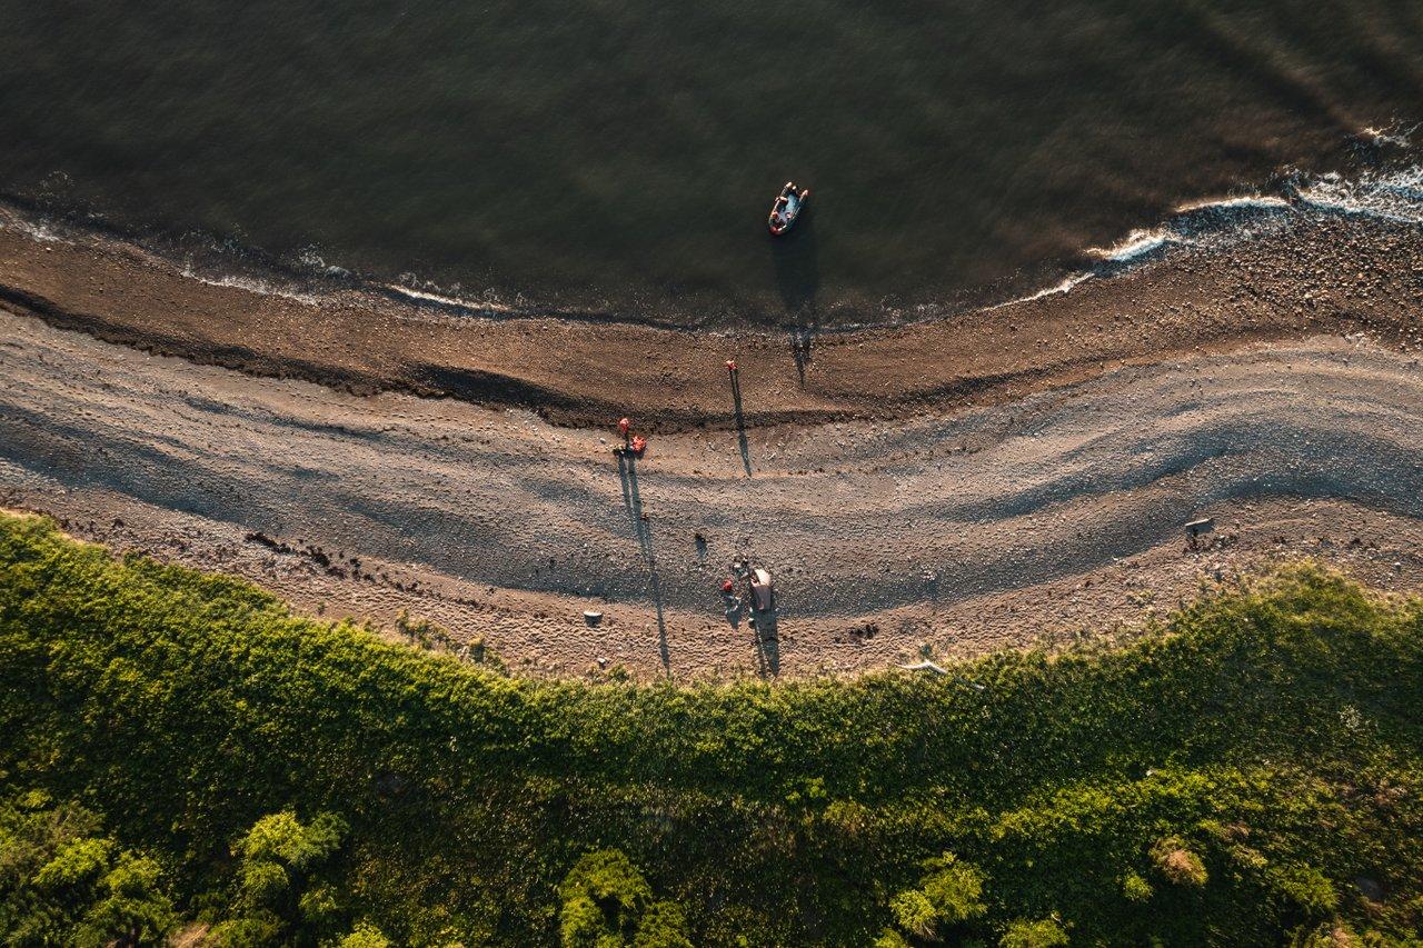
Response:
POLYGON ((1420 944, 1423 604, 1315 567, 983 690, 579 685, 6 517, 0 656, 4 944, 1420 944))

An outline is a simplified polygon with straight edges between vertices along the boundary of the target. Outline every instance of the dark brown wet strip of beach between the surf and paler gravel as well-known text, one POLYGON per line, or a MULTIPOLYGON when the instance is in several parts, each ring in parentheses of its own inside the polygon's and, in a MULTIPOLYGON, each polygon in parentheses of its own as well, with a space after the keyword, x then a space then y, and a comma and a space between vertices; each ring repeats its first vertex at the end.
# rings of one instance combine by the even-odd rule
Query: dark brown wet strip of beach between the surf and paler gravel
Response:
POLYGON ((1111 367, 1321 332, 1423 342, 1416 223, 1306 208, 1259 231, 1168 246, 1063 292, 951 317, 770 332, 453 315, 393 292, 272 295, 189 276, 131 243, 36 236, 10 219, 0 306, 259 377, 521 407, 569 427, 632 414, 649 431, 952 411, 1111 367), (726 359, 741 367, 740 418, 726 359))

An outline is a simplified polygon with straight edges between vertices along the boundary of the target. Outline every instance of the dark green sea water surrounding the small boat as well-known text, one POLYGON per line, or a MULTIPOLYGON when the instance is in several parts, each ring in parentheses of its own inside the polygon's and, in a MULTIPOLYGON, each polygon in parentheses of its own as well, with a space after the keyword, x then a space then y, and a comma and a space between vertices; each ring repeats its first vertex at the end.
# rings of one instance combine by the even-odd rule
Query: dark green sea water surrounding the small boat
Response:
POLYGON ((1416 1, 0 0, 0 191, 683 322, 1005 293, 1423 115, 1416 1), (787 178, 815 194, 777 245, 787 178))

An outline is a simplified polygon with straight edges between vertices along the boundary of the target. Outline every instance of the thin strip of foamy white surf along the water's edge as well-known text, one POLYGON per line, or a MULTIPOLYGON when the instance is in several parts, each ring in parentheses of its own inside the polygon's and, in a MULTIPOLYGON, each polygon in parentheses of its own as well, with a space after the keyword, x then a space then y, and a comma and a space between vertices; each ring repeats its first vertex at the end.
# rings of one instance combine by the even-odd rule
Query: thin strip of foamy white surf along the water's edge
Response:
MULTIPOLYGON (((902 329, 932 323, 975 310, 996 310, 1067 292, 1090 279, 1120 276, 1138 266, 1155 263, 1167 255, 1221 249, 1249 241, 1271 229, 1289 226, 1298 216, 1358 216, 1399 225, 1423 223, 1423 165, 1397 165, 1387 171, 1365 171, 1355 177, 1328 172, 1313 177, 1292 175, 1272 191, 1249 191, 1220 198, 1200 198, 1177 205, 1158 223, 1128 231, 1103 246, 1083 248, 1074 260, 1044 262, 1057 270, 1035 288, 1019 292, 995 290, 992 286, 965 293, 965 300, 921 302, 912 306, 881 306, 875 312, 857 312, 850 319, 807 305, 787 309, 780 316, 710 316, 710 322, 682 323, 677 309, 667 315, 615 306, 564 306, 539 302, 524 293, 511 300, 495 292, 470 296, 404 273, 398 280, 363 276, 327 263, 314 253, 283 260, 256 248, 233 248, 231 241, 189 235, 175 242, 157 233, 131 232, 112 226, 100 216, 77 212, 54 215, 40 205, 7 195, 0 198, 0 229, 26 233, 41 243, 84 245, 95 251, 138 255, 159 266, 171 266, 196 282, 218 288, 242 289, 258 295, 280 296, 313 306, 339 306, 354 299, 357 305, 390 300, 433 313, 472 319, 561 319, 588 323, 619 323, 687 332, 781 333, 787 329, 814 326, 817 335, 857 333, 864 330, 902 329), (192 241, 196 241, 196 249, 192 241), (199 262, 205 260, 205 262, 199 262), (995 296, 995 292, 998 293, 995 296)), ((1013 280, 1017 283, 1020 280, 1013 280)), ((834 306, 828 307, 834 310, 834 306)))

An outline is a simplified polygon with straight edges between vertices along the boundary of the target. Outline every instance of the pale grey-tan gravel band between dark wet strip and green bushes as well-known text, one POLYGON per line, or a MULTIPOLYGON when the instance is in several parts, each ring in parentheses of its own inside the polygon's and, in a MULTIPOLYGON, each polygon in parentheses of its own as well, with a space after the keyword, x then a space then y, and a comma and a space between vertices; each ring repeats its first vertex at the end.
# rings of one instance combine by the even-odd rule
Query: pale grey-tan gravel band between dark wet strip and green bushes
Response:
POLYGON ((0 326, 0 502, 313 613, 406 609, 536 673, 805 675, 1064 642, 1279 557, 1423 576, 1423 370, 1362 337, 875 424, 659 434, 633 465, 610 433, 524 410, 0 326), (777 575, 774 631, 723 615, 741 557, 777 575))

